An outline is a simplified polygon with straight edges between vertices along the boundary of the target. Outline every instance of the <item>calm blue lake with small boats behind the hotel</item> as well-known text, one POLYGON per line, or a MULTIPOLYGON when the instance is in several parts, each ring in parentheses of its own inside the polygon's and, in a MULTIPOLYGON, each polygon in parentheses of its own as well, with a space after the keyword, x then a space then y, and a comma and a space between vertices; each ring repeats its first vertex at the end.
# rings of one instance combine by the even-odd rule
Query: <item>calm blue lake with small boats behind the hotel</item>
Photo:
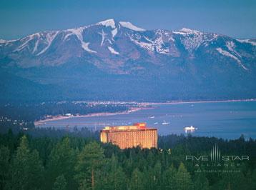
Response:
POLYGON ((70 128, 87 126, 102 129, 104 126, 147 122, 148 126, 157 128, 161 135, 186 134, 185 126, 195 126, 197 130, 190 132, 195 136, 237 139, 244 134, 245 138, 256 139, 256 101, 161 104, 153 107, 130 114, 46 121, 41 127, 69 125, 70 128))

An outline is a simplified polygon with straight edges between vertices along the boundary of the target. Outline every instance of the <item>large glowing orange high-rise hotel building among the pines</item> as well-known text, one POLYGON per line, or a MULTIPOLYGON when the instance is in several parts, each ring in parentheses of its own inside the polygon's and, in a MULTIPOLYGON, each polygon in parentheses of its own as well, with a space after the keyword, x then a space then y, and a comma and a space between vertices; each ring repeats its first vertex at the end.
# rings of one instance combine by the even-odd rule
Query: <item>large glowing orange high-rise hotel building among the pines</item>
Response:
POLYGON ((112 143, 127 149, 140 146, 142 149, 157 148, 157 129, 148 128, 146 123, 132 126, 105 126, 100 131, 103 143, 112 143))

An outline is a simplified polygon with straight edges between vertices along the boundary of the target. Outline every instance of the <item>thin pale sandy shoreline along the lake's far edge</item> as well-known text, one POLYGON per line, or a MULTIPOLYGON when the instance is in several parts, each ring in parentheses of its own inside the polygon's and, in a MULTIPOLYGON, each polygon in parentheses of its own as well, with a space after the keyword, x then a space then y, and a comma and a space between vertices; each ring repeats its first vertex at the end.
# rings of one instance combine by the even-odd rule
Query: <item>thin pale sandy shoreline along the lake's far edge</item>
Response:
MULTIPOLYGON (((164 105, 164 104, 200 104, 200 103, 217 103, 217 102, 240 102, 240 101, 256 101, 256 99, 234 99, 234 100, 210 100, 210 101, 172 101, 172 102, 143 102, 139 104, 144 104, 146 106, 152 105, 164 105)), ((119 112, 98 112, 92 114, 84 114, 78 116, 52 116, 48 119, 41 119, 39 121, 34 121, 34 126, 42 126, 47 121, 57 121, 61 119, 69 119, 69 118, 79 118, 79 117, 94 117, 94 116, 115 116, 115 115, 122 115, 122 114, 130 114, 135 111, 144 110, 144 109, 154 109, 152 107, 132 107, 128 111, 119 111, 119 112)))

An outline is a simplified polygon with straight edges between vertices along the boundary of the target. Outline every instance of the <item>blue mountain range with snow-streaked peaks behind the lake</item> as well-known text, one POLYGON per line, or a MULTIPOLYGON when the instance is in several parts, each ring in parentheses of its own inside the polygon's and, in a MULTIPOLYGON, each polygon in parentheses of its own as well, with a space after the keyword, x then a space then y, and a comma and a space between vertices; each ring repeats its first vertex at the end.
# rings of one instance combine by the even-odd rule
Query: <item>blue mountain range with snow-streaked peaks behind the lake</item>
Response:
POLYGON ((256 40, 109 19, 0 40, 0 99, 170 101, 256 97, 256 40))

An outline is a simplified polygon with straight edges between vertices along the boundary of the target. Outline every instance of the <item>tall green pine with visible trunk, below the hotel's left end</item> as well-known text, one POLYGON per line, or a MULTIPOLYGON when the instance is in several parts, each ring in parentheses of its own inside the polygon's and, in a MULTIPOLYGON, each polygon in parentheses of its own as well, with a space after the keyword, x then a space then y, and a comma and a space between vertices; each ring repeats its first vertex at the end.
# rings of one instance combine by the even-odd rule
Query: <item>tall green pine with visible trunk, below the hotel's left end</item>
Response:
POLYGON ((97 142, 91 142, 84 146, 78 156, 75 167, 80 189, 95 189, 100 169, 104 164, 104 150, 97 142))

